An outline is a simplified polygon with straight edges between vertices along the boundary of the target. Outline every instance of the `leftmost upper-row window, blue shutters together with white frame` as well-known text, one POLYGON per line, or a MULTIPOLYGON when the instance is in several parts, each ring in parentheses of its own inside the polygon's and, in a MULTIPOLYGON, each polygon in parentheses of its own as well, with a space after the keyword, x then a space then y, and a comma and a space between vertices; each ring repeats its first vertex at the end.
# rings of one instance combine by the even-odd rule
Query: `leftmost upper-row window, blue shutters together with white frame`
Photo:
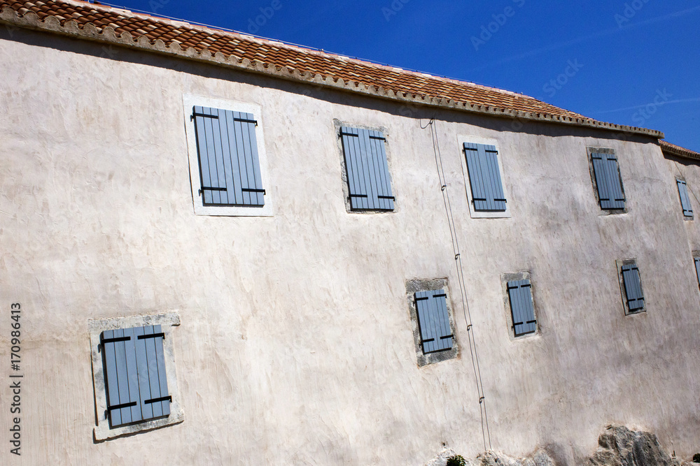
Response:
POLYGON ((260 108, 185 97, 196 214, 270 215, 260 108))

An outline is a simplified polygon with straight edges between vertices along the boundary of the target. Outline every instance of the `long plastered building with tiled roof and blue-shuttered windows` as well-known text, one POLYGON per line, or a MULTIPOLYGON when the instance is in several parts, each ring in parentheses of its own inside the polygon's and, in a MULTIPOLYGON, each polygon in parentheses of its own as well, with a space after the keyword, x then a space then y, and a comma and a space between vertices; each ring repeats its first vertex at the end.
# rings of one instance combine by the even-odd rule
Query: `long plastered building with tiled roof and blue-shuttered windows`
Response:
POLYGON ((3 463, 575 464, 608 423, 696 453, 700 154, 232 32, 0 8, 3 463))

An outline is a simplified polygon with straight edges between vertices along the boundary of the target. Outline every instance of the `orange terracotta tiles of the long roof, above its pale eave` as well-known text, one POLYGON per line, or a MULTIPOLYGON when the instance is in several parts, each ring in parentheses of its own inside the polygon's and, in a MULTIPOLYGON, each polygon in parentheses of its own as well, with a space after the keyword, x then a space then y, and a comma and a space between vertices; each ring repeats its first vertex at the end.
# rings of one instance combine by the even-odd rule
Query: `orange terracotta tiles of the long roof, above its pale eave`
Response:
MULTIPOLYGON (((251 62, 260 61, 267 64, 267 68, 272 65, 273 69, 285 69, 290 73, 309 76, 309 79, 320 75, 323 79, 330 78, 333 82, 340 80, 340 82, 358 89, 365 87, 375 89, 377 93, 380 92, 379 89, 382 89, 385 94, 393 92, 398 96, 421 99, 428 103, 433 103, 433 99, 435 101, 449 101, 470 111, 500 112, 504 116, 511 117, 514 116, 513 112, 524 112, 526 115, 520 115, 524 119, 549 119, 555 122, 598 126, 617 131, 633 131, 656 137, 663 136, 657 131, 597 122, 538 99, 493 87, 405 71, 400 68, 372 64, 367 61, 349 59, 275 41, 252 38, 235 32, 131 13, 119 8, 84 1, 21 2, 0 0, 0 10, 6 8, 14 10, 20 26, 24 24, 19 18, 25 17, 31 12, 36 14, 39 22, 44 22, 48 17, 55 17, 62 27, 69 21, 77 22, 78 29, 92 24, 97 29, 98 34, 103 34, 105 29, 109 27, 113 29, 117 37, 125 32, 131 34, 134 44, 141 37, 148 39, 151 45, 155 45, 155 41, 160 39, 167 48, 178 44, 182 50, 188 48, 193 48, 197 52, 206 50, 211 53, 211 56, 221 52, 227 59, 233 58, 239 63, 243 59, 248 59, 251 62)), ((8 16, 4 12, 2 17, 6 21, 8 20, 8 16)), ((37 26, 41 27, 41 23, 37 26)), ((387 95, 391 96, 391 94, 387 95)))

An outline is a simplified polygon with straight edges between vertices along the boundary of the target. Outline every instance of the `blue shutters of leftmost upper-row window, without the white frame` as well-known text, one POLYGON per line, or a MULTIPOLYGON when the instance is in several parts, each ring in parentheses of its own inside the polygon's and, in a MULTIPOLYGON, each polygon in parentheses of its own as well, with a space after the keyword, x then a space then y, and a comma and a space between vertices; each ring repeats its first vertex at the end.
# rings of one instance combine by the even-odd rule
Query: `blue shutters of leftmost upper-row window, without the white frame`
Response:
POLYGON ((265 205, 255 117, 251 113, 195 106, 193 119, 202 203, 265 205))

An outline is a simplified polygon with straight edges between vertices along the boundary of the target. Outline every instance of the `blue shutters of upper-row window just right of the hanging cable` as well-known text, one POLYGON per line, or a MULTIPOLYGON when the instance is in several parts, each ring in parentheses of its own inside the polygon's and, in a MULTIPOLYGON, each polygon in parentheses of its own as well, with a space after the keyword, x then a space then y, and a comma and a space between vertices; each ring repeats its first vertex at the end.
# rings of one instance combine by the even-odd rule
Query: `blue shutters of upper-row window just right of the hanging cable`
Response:
POLYGON ((503 212, 506 199, 498 168, 498 150, 493 145, 464 143, 474 210, 503 212))

